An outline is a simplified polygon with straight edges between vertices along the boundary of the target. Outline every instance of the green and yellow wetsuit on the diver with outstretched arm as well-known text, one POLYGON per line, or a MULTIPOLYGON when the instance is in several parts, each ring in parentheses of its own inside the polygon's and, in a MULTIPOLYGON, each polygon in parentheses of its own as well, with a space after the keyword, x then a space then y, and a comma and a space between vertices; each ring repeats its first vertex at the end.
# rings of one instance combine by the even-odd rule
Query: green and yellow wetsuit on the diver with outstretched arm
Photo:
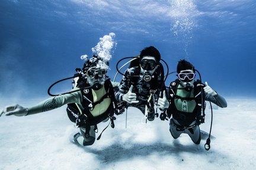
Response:
MULTIPOLYGON (((111 84, 110 80, 106 80, 105 83, 106 82, 108 84, 111 84)), ((75 91, 75 90, 79 90, 79 88, 75 87, 71 91, 75 91)), ((83 114, 85 107, 88 107, 88 106, 84 106, 84 104, 83 104, 83 102, 85 100, 84 98, 85 98, 86 94, 88 94, 87 91, 88 91, 88 93, 91 93, 90 95, 92 98, 91 99, 92 103, 102 100, 103 96, 105 96, 105 94, 107 93, 105 86, 102 86, 101 89, 99 89, 99 90, 93 90, 93 89, 79 90, 79 91, 75 91, 72 93, 51 97, 50 99, 40 102, 36 106, 28 107, 28 115, 53 110, 53 109, 56 109, 57 107, 61 107, 61 106, 65 105, 65 104, 76 104, 75 106, 76 106, 76 109, 78 109, 78 110, 76 110, 76 111, 70 110, 70 112, 69 112, 69 110, 67 109, 69 119, 72 122, 76 123, 76 121, 78 120, 78 115, 83 114)), ((114 96, 114 93, 113 93, 113 96, 114 96)), ((113 110, 110 110, 110 108, 113 106, 111 104, 111 102, 113 102, 113 101, 107 95, 106 97, 104 97, 104 99, 100 103, 95 104, 93 109, 88 109, 88 112, 90 112, 91 115, 95 118, 102 116, 103 114, 105 114, 108 111, 112 112, 113 110)), ((107 119, 107 116, 106 116, 106 119, 107 119)), ((84 140, 85 140, 84 146, 92 145, 92 143, 94 143, 94 141, 95 141, 94 126, 91 126, 91 128, 89 130, 89 136, 87 138, 85 138, 85 130, 86 130, 85 126, 80 127, 81 134, 84 136, 84 140)))

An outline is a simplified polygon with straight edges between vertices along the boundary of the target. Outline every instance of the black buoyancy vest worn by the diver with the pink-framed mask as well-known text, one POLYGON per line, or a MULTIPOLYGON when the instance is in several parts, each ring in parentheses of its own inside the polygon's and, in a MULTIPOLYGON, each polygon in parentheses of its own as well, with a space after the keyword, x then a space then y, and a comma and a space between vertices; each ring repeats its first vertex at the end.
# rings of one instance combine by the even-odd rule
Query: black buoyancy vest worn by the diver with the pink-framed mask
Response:
POLYGON ((190 126, 191 123, 196 120, 197 125, 204 123, 204 109, 205 109, 205 100, 204 100, 204 84, 201 83, 200 80, 194 81, 194 94, 193 97, 181 97, 177 95, 178 84, 180 84, 180 80, 176 79, 172 81, 169 85, 169 102, 171 102, 171 106, 167 110, 168 117, 172 117, 180 123, 182 126, 190 126), (182 112, 178 110, 175 106, 175 99, 181 100, 194 100, 196 102, 196 106, 192 113, 190 112, 182 112), (202 107, 203 104, 203 107, 202 107))

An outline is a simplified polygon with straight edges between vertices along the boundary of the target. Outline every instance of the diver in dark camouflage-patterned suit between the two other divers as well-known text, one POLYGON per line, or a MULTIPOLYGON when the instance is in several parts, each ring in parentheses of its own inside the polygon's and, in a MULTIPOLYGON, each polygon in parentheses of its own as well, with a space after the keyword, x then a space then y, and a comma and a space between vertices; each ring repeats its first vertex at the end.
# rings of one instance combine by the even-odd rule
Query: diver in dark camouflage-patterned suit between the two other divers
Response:
POLYGON ((160 60, 161 55, 155 47, 144 48, 133 62, 135 64, 131 63, 130 68, 122 74, 123 78, 115 90, 116 100, 120 102, 121 107, 136 107, 145 115, 145 122, 155 119, 156 100, 160 99, 157 107, 161 111, 169 106, 168 100, 161 100, 167 96, 167 91, 164 84, 164 68, 160 60), (164 93, 162 98, 160 92, 164 93))

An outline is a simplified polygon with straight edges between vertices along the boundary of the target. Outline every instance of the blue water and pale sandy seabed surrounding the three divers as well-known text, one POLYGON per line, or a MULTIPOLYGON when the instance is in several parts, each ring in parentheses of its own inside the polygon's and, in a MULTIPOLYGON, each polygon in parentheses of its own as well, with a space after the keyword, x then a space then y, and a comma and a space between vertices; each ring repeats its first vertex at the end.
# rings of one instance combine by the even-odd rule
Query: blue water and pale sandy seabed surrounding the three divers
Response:
MULTIPOLYGON (((47 99, 52 83, 83 66, 81 56, 102 50, 110 54, 113 80, 121 58, 149 45, 158 48, 169 73, 180 59, 193 63, 228 107, 213 107, 211 119, 207 103, 200 130, 210 132, 213 121, 209 151, 204 149, 207 133, 200 145, 187 134, 173 139, 169 121, 145 124, 135 107, 84 148, 72 142, 79 129, 65 106, 1 116, 0 169, 255 169, 255 7, 252 0, 1 0, 0 110, 47 99), (101 42, 104 49, 98 50, 101 42)), ((170 74, 165 85, 174 79, 170 74)), ((57 84, 52 93, 69 91, 71 81, 57 84)), ((98 124, 99 132, 107 123, 98 124)))

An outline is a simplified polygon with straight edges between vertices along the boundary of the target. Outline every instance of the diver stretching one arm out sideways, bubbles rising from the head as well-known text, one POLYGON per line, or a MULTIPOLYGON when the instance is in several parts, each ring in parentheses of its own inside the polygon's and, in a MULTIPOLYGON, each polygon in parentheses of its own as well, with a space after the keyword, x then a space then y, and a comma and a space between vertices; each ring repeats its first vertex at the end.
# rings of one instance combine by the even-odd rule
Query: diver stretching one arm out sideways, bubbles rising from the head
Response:
MULTIPOLYGON (((113 120, 116 119, 114 117, 114 107, 116 106, 114 90, 110 79, 106 75, 107 68, 108 61, 93 55, 85 61, 82 70, 76 68, 79 77, 74 76, 76 77, 73 80, 75 85, 68 93, 52 95, 48 91, 54 97, 31 107, 23 107, 19 104, 7 106, 0 116, 28 116, 68 104, 66 109, 68 117, 76 123, 80 130, 73 136, 72 142, 81 146, 92 145, 95 142, 95 132, 98 130, 97 124, 110 119, 111 127, 114 128, 113 120)), ((100 139, 100 136, 98 139, 100 139)))

